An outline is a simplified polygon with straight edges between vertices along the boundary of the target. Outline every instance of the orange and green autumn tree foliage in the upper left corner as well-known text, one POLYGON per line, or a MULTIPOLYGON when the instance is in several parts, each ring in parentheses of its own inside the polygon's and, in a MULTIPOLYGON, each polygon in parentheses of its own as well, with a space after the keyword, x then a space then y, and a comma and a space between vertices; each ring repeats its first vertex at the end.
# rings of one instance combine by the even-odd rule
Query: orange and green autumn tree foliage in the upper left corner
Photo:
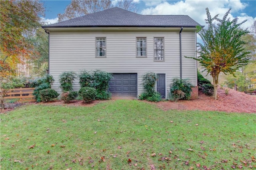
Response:
POLYGON ((32 54, 33 45, 27 37, 40 26, 39 15, 44 6, 34 1, 0 1, 1 77, 16 75, 17 63, 24 63, 32 54))

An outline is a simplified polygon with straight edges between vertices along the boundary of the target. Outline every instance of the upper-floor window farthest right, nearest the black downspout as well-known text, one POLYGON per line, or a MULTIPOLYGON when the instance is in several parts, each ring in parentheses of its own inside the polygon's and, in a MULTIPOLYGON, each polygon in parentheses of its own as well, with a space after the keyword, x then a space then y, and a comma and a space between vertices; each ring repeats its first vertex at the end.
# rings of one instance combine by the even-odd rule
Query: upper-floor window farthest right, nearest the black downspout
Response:
POLYGON ((164 61, 164 38, 154 38, 154 60, 164 61))

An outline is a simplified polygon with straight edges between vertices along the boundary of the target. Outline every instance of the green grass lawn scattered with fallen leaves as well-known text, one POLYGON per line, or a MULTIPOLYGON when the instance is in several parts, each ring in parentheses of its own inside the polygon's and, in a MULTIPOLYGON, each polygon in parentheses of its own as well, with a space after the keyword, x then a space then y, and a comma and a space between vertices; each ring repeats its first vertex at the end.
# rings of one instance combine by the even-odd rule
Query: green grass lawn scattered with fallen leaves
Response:
POLYGON ((162 111, 138 100, 1 114, 2 170, 254 169, 256 114, 162 111))

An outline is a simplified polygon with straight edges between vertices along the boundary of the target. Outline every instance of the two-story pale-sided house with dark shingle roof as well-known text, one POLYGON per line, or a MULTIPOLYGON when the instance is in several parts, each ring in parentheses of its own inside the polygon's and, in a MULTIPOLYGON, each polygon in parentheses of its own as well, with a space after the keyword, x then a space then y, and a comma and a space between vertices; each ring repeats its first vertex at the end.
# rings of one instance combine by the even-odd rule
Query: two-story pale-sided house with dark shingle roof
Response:
POLYGON ((189 78, 198 95, 197 63, 184 57, 196 57, 196 26, 187 15, 140 15, 117 7, 42 26, 49 34, 52 88, 61 92, 64 71, 100 69, 113 73, 112 97, 136 98, 143 92, 142 75, 152 71, 162 98, 173 77, 189 78))

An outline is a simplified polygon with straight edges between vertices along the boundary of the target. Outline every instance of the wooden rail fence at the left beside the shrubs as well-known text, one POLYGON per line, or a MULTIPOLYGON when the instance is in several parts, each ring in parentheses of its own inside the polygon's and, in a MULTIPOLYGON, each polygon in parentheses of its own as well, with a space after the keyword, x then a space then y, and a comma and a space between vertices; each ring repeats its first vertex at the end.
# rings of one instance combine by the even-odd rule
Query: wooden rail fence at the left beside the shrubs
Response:
MULTIPOLYGON (((35 88, 17 88, 9 89, 4 96, 4 99, 20 99, 19 101, 36 101, 33 91, 35 88)), ((1 90, 2 91, 2 90, 1 90)), ((2 94, 1 94, 2 95, 2 94)))

